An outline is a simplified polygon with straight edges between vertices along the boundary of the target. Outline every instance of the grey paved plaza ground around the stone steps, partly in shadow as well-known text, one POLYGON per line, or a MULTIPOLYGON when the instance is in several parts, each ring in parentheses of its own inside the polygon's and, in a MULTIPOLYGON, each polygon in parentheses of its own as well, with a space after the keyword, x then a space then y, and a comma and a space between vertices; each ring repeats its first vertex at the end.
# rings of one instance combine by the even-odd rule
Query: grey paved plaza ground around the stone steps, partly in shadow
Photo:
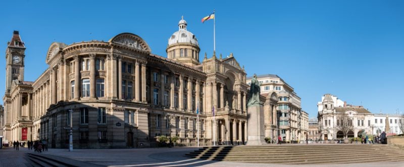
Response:
MULTIPOLYGON (((141 148, 141 149, 49 149, 41 154, 61 156, 104 166, 404 166, 404 162, 372 162, 348 164, 282 165, 267 163, 240 163, 229 161, 200 160, 184 157, 197 147, 141 148)), ((0 150, 0 166, 32 166, 25 153, 26 148, 0 150)), ((366 153, 365 153, 366 154, 366 153)))

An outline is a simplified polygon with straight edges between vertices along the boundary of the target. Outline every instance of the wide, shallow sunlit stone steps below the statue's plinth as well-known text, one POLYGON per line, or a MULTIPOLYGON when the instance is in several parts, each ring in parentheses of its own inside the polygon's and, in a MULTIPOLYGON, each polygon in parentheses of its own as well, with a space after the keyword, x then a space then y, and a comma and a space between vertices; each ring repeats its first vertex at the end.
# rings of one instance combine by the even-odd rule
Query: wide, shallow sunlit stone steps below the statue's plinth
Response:
POLYGON ((404 149, 370 144, 219 146, 199 148, 185 156, 248 163, 361 163, 404 161, 404 149))

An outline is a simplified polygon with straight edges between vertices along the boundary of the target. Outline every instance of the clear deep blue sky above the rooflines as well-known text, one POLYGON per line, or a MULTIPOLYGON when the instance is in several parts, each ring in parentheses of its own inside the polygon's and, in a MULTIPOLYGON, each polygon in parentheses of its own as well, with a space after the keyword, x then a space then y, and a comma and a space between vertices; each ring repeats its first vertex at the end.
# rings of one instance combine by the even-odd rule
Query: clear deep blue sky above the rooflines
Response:
MULTIPOLYGON (((317 102, 331 93, 371 112, 404 111, 404 1, 2 1, 0 53, 13 30, 25 42, 25 80, 46 68, 53 41, 109 40, 122 32, 141 36, 166 57, 168 38, 184 15, 200 55, 233 53, 249 75, 277 74, 317 116, 317 102)), ((5 89, 5 68, 0 92, 5 89)))

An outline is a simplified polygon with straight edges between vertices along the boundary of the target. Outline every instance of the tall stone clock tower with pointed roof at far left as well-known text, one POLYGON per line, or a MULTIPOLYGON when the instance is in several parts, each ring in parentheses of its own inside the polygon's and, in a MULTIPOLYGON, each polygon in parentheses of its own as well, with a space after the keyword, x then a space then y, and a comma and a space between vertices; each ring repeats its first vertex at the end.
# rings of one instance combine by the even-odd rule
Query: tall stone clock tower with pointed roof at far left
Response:
POLYGON ((13 80, 24 80, 25 45, 18 31, 13 32, 6 50, 6 95, 10 94, 13 80))

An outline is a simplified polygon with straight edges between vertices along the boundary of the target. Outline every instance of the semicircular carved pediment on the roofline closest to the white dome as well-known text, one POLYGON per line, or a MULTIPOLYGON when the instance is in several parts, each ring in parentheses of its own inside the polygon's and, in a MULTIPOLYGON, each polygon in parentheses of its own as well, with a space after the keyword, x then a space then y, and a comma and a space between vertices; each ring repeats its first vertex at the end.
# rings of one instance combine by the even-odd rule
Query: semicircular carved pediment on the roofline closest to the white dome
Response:
POLYGON ((151 52, 147 43, 138 35, 133 33, 121 33, 110 39, 110 43, 127 47, 130 49, 136 49, 144 52, 151 52))

